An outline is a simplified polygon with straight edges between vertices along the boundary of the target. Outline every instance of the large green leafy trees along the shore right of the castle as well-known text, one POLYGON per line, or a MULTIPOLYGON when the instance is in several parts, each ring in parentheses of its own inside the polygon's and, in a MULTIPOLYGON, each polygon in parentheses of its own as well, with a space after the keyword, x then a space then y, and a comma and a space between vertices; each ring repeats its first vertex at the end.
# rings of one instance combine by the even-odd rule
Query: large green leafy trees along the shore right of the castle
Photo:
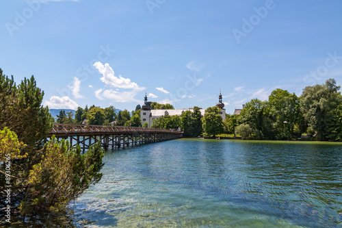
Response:
MULTIPOLYGON (((308 134, 312 139, 341 141, 340 88, 334 79, 306 86, 300 97, 278 88, 272 91, 268 101, 252 99, 246 103, 237 117, 235 132, 254 139, 291 140, 308 134)), ((229 117, 227 129, 233 125, 231 122, 233 119, 229 117)))

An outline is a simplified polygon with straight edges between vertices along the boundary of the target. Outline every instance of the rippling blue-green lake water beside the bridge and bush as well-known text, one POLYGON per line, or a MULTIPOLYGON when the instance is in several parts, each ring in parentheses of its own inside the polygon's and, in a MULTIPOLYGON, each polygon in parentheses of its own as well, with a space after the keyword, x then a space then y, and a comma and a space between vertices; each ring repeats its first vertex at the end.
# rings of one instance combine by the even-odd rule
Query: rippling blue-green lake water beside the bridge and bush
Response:
POLYGON ((342 227, 341 151, 232 140, 107 151, 75 212, 90 227, 342 227))

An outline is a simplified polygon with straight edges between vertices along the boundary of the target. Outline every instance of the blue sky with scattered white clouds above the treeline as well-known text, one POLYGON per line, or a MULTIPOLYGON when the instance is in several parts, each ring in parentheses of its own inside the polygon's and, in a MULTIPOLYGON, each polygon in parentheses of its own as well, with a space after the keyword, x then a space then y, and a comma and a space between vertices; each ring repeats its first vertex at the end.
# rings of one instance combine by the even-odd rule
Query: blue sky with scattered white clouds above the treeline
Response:
POLYGON ((44 105, 218 103, 342 83, 342 1, 0 0, 0 67, 44 105))

